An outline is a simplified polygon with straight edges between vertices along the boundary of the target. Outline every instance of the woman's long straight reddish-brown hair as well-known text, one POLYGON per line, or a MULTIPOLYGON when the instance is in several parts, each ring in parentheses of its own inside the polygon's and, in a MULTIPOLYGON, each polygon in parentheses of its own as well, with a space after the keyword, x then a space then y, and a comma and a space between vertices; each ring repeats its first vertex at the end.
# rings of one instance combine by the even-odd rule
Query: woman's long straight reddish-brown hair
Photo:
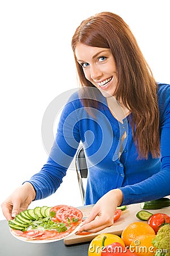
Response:
MULTIPOLYGON (((139 159, 160 156, 159 109, 156 81, 146 63, 129 26, 113 13, 96 14, 80 24, 71 45, 81 86, 95 87, 84 76, 76 60, 76 44, 110 48, 116 61, 117 88, 114 97, 131 111, 131 128, 139 159)), ((94 106, 92 100, 83 100, 84 106, 94 106)))

